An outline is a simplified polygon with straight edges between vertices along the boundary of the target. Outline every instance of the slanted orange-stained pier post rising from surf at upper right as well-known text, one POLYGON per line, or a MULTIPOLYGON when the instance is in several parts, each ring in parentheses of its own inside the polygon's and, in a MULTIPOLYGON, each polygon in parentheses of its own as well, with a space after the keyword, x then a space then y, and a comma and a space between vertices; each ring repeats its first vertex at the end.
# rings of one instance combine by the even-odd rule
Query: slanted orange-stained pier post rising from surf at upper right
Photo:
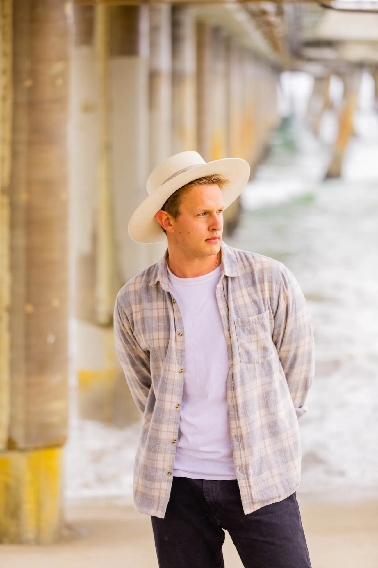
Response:
POLYGON ((344 95, 339 115, 339 132, 326 178, 338 178, 341 176, 343 155, 353 133, 353 116, 358 104, 361 79, 362 72, 360 70, 354 70, 343 78, 344 95))

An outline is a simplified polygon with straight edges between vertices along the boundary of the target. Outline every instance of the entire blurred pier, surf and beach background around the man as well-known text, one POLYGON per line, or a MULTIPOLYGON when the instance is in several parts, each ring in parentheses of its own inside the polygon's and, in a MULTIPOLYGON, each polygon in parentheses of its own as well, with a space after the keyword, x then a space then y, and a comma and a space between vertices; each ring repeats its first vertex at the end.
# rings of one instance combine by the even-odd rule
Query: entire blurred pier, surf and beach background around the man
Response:
POLYGON ((315 323, 313 566, 375 568, 378 2, 0 6, 0 558, 157 566, 112 314, 166 247, 128 236, 148 174, 190 149, 249 162, 224 240, 284 262, 315 323))

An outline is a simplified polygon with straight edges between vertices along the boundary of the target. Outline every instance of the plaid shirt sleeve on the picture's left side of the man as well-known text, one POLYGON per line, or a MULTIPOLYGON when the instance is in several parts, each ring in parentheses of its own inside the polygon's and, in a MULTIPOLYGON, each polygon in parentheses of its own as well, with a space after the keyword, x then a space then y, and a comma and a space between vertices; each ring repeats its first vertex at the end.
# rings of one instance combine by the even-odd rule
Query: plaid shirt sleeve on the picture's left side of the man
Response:
POLYGON ((139 410, 144 412, 151 387, 150 354, 143 351, 135 339, 129 318, 120 305, 119 296, 114 306, 114 339, 131 396, 139 410))

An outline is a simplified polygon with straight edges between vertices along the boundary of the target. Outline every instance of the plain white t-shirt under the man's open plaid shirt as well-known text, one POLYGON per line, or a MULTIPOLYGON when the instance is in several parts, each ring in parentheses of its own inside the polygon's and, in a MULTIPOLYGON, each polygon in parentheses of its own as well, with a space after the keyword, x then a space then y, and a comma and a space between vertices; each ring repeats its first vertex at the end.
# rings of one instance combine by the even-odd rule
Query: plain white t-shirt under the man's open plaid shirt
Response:
POLYGON ((197 278, 168 269, 185 341, 184 392, 173 475, 236 479, 226 396, 227 344, 216 303, 219 268, 197 278))

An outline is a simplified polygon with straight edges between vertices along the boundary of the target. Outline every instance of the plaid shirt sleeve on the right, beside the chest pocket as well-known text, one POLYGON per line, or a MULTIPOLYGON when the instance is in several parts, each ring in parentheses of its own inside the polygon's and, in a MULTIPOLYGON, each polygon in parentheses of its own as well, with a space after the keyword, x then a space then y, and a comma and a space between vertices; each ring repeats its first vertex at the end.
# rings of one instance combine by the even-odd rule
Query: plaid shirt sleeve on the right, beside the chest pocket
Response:
POLYGON ((303 292, 286 266, 274 316, 273 341, 299 418, 307 412, 305 400, 314 375, 313 324, 303 292))

